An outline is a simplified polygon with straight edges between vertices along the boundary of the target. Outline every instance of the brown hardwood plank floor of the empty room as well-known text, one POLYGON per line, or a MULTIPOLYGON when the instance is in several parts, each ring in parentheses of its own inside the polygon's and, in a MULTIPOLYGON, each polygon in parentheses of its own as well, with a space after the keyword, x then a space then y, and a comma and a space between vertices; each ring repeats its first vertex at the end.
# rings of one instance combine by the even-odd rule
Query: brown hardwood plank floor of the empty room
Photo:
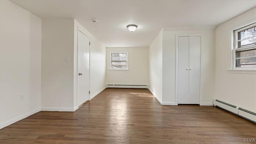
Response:
POLYGON ((214 106, 162 106, 149 90, 118 88, 76 112, 38 112, 0 130, 1 144, 241 144, 244 138, 256 138, 256 125, 214 106))

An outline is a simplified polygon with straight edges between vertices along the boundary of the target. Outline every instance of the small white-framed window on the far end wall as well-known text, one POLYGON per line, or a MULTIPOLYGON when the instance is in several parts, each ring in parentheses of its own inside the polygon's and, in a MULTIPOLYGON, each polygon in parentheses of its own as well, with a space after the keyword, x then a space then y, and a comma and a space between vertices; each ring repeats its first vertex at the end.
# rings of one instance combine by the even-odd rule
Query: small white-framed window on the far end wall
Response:
POLYGON ((110 69, 128 69, 127 52, 111 52, 110 69))

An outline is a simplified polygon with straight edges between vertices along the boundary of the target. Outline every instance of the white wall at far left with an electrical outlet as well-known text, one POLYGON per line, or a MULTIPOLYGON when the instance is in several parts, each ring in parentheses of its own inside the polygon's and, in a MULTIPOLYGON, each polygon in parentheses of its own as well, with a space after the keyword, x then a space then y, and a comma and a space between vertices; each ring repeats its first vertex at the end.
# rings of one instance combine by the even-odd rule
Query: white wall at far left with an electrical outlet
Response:
POLYGON ((0 0, 0 79, 0 128, 40 111, 41 19, 7 0, 0 0))

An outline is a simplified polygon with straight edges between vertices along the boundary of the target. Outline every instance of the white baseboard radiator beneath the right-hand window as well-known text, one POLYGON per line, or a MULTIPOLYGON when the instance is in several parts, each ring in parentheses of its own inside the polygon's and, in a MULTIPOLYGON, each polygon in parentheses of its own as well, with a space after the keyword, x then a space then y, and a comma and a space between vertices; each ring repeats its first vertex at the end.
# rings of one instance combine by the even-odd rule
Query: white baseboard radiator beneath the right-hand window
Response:
POLYGON ((255 112, 251 112, 251 111, 241 108, 239 106, 234 106, 232 104, 228 104, 221 100, 214 100, 213 105, 256 123, 256 113, 255 112))

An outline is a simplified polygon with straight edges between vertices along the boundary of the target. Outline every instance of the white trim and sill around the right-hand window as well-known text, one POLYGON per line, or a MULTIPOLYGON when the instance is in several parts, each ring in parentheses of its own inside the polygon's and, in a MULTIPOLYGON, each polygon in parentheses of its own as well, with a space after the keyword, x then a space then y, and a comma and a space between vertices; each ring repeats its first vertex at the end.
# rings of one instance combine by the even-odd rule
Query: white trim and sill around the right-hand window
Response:
MULTIPOLYGON (((232 69, 231 70, 227 70, 229 73, 232 73, 232 71, 236 71, 236 73, 237 72, 242 72, 242 73, 253 73, 253 74, 255 74, 254 73, 254 71, 256 71, 255 67, 238 68, 238 67, 236 67, 236 61, 235 61, 236 60, 236 44, 237 44, 236 41, 234 40, 235 34, 237 34, 237 32, 235 32, 235 31, 236 30, 242 31, 244 29, 247 29, 246 27, 251 25, 251 24, 256 25, 256 21, 250 22, 248 24, 240 26, 239 28, 236 28, 236 29, 231 31, 232 32, 232 36, 231 36, 231 38, 232 38, 232 44, 231 44, 231 50, 232 50, 232 56, 231 56, 232 60, 231 60, 231 63, 232 63, 232 67, 231 68, 232 69)), ((237 38, 237 36, 236 36, 236 38, 237 38)), ((255 45, 251 45, 251 46, 245 46, 244 48, 239 48, 239 50, 250 50, 250 49, 254 49, 254 48, 255 48, 255 45)))

